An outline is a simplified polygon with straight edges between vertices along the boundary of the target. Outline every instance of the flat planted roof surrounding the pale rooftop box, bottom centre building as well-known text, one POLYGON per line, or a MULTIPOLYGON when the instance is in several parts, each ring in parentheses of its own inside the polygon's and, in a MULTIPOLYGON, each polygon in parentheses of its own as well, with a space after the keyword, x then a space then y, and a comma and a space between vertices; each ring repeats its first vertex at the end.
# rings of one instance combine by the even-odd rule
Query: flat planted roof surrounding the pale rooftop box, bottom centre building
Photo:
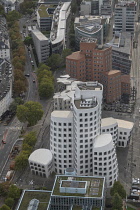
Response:
POLYGON ((105 178, 104 177, 96 177, 96 176, 66 176, 66 175, 57 175, 53 190, 52 196, 69 196, 69 197, 102 197, 104 190, 105 178), (87 190, 86 194, 78 194, 78 193, 61 193, 60 181, 62 180, 75 180, 75 181, 86 181, 87 182, 87 190))

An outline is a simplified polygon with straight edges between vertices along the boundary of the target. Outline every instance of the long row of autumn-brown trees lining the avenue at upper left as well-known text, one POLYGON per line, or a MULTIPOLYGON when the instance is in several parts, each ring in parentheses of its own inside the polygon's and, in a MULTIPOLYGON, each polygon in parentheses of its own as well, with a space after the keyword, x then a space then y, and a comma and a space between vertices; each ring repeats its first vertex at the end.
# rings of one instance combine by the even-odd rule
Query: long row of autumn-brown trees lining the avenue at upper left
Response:
POLYGON ((6 15, 13 56, 12 64, 14 66, 13 91, 16 96, 25 92, 27 87, 27 80, 24 76, 24 67, 26 62, 25 48, 18 22, 20 17, 21 15, 17 11, 11 11, 6 15))

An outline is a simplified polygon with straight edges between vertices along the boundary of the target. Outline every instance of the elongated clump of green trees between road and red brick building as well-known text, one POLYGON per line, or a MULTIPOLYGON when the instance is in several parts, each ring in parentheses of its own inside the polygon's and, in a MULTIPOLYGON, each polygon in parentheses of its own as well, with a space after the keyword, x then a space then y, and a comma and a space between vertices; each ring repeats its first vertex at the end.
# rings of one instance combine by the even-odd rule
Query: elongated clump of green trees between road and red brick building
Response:
POLYGON ((54 78, 50 67, 40 64, 37 70, 38 90, 41 98, 49 98, 54 93, 54 78))

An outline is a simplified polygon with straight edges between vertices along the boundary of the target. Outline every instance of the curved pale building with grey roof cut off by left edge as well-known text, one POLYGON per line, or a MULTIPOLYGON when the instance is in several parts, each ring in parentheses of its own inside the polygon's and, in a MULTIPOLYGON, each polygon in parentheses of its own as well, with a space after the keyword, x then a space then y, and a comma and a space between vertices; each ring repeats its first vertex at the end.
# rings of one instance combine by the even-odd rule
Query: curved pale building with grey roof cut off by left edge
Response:
POLYGON ((8 109, 12 102, 12 65, 0 58, 0 116, 8 109))

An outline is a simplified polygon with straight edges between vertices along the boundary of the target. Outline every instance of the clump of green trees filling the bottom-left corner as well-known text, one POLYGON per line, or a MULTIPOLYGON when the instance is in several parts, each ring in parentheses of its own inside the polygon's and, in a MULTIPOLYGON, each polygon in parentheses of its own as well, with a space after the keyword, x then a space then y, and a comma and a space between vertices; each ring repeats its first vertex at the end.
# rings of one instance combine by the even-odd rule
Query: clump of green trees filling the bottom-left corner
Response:
POLYGON ((4 198, 4 204, 0 210, 11 210, 17 199, 19 199, 21 190, 10 182, 0 183, 0 196, 4 198))

